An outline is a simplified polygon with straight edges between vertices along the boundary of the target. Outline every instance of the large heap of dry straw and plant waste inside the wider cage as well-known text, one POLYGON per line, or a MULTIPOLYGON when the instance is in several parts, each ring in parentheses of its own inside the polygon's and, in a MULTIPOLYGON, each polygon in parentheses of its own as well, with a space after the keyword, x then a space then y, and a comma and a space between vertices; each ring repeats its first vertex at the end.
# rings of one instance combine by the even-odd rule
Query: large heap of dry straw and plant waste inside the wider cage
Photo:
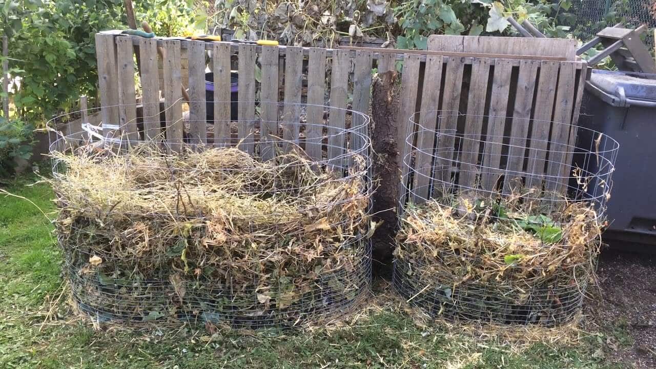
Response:
MULTIPOLYGON (((82 150, 82 149, 80 149, 82 150)), ((239 328, 342 313, 365 290, 365 163, 237 148, 54 154, 74 301, 100 320, 239 328)))

